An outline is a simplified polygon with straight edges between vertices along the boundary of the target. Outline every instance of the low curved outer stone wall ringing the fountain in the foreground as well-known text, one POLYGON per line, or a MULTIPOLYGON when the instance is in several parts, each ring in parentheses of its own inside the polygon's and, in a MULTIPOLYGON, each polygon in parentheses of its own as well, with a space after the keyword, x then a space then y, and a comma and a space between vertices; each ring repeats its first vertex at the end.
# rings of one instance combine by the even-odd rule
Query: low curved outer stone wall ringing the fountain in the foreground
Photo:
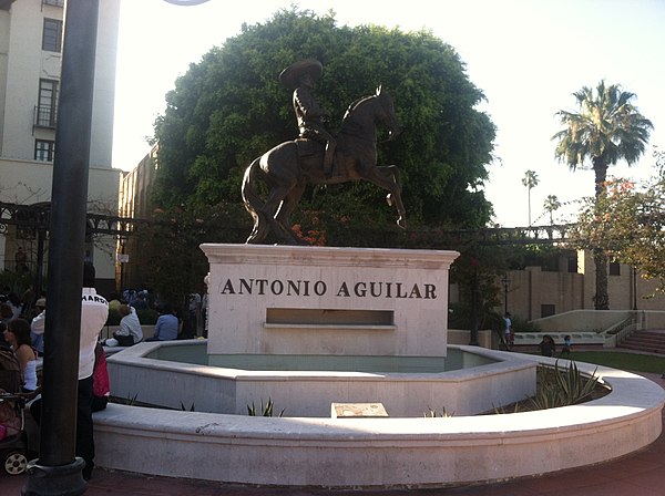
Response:
MULTIPOLYGON (((596 370, 577 366, 586 374, 596 370)), ((596 373, 612 388, 602 399, 503 415, 277 418, 110 404, 94 415, 95 462, 111 469, 276 486, 424 487, 539 475, 617 458, 661 435, 661 386, 620 370, 598 366, 596 373)), ((171 386, 166 379, 162 384, 171 386)))

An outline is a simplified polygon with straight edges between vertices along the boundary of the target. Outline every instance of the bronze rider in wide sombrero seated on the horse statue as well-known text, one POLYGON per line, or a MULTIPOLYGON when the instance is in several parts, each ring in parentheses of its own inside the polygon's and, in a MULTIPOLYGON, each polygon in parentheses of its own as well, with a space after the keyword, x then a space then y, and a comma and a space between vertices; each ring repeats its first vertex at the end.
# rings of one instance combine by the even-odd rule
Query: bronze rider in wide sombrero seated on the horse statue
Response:
POLYGON ((300 137, 316 140, 326 145, 324 156, 324 174, 332 177, 332 158, 337 141, 324 126, 329 116, 311 95, 314 83, 321 76, 323 65, 318 60, 305 59, 296 62, 279 74, 279 81, 294 90, 293 104, 298 121, 300 137))

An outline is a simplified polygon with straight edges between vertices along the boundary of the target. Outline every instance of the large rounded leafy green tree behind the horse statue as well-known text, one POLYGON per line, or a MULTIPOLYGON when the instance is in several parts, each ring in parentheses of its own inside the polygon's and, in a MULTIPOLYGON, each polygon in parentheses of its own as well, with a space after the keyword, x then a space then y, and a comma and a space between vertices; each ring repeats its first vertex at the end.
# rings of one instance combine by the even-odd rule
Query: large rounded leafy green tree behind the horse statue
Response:
MULTIPOLYGON (((411 226, 483 226, 492 214, 481 189, 493 151, 494 125, 475 110, 483 99, 457 52, 429 32, 338 27, 291 7, 212 49, 190 66, 155 122, 160 143, 155 205, 197 213, 241 204, 241 179, 253 158, 297 136, 290 92, 279 72, 316 58, 324 74, 314 92, 339 128, 347 106, 381 84, 405 133, 379 145, 379 164, 402 170, 411 226)), ((369 184, 310 189, 296 218, 304 231, 344 220, 348 226, 392 226, 385 192, 369 184)), ((249 216, 246 223, 249 225, 249 216)), ((341 224, 340 224, 341 225, 341 224)), ((247 231, 248 234, 248 231, 247 231)), ((329 244, 337 239, 327 237, 329 244)), ((347 240, 345 240, 347 242, 347 240)))

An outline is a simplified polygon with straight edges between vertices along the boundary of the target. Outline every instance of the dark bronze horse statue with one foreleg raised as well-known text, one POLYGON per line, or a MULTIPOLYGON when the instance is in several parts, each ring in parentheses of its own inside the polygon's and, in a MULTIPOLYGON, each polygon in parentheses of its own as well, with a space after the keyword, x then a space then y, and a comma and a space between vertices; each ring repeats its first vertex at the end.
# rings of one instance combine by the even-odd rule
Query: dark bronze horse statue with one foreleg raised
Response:
POLYGON ((377 125, 389 130, 389 140, 400 133, 390 95, 379 87, 376 94, 349 105, 335 152, 332 177, 324 174, 324 145, 313 140, 297 138, 282 143, 254 159, 243 178, 243 200, 254 218, 248 244, 263 242, 272 231, 286 245, 303 245, 293 230, 289 217, 307 184, 337 184, 369 180, 388 190, 388 205, 397 208, 397 225, 406 228, 406 210, 401 199, 401 182, 396 165, 377 165, 377 125), (256 174, 263 173, 269 186, 265 202, 256 193, 256 174))

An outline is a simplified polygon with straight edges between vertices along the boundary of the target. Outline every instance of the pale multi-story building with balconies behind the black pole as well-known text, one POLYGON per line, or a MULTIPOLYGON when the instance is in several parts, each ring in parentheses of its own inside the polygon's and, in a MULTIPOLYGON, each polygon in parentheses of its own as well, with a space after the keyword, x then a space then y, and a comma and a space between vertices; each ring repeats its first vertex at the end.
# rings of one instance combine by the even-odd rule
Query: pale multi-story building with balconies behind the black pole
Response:
MULTIPOLYGON (((0 202, 51 200, 58 96, 63 48, 64 0, 0 0, 0 202)), ((117 215, 122 172, 112 168, 115 60, 120 0, 100 1, 95 53, 89 211, 117 215)), ((16 255, 35 269, 34 236, 9 223, 0 231, 0 269, 13 270, 16 255), (22 257, 21 257, 22 258, 22 257)), ((90 237, 101 288, 114 287, 115 244, 90 237)))

